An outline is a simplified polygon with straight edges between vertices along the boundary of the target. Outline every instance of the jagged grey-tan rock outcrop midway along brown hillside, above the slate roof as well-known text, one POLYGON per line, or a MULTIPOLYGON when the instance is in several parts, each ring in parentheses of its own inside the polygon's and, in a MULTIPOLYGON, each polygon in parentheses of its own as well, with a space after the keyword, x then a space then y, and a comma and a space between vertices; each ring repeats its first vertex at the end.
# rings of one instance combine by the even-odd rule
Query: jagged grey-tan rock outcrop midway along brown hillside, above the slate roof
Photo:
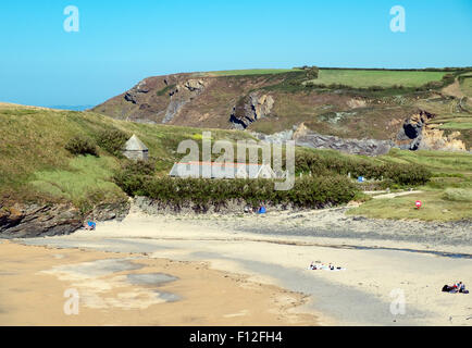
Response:
POLYGON ((252 92, 241 98, 233 108, 229 122, 235 128, 245 129, 252 122, 263 119, 272 111, 274 99, 269 95, 252 92))

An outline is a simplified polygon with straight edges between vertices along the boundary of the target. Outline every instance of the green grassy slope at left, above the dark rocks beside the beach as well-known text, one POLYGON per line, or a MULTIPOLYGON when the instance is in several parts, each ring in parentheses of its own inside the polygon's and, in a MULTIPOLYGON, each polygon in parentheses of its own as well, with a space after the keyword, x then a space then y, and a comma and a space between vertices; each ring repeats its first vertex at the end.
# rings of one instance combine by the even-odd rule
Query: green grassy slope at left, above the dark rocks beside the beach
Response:
MULTIPOLYGON (((111 182, 119 160, 103 150, 100 157, 73 157, 64 146, 75 135, 95 138, 116 127, 136 134, 166 172, 177 160, 178 142, 198 139, 201 129, 127 123, 91 112, 0 107, 0 202, 72 201, 84 211, 98 202, 126 199, 111 182)), ((212 130, 214 139, 236 140, 248 135, 212 130)), ((178 156, 179 157, 179 156, 178 156)))

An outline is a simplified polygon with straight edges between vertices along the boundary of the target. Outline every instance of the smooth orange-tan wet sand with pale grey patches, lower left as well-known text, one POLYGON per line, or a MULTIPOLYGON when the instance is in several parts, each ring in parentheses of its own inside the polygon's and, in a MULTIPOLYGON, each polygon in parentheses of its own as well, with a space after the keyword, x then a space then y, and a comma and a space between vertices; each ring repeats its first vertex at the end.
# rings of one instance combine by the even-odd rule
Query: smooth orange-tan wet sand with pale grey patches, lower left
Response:
POLYGON ((0 244, 0 325, 315 325, 303 301, 204 262, 0 244))

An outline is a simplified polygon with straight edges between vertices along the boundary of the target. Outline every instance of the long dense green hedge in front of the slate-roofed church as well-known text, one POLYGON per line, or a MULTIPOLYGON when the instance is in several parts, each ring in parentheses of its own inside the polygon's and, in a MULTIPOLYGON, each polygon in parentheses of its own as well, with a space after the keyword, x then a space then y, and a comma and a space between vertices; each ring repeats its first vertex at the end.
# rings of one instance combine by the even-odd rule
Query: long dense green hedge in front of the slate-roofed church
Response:
POLYGON ((115 175, 115 183, 129 196, 147 196, 176 208, 194 203, 201 210, 210 204, 221 207, 233 199, 254 207, 271 203, 322 208, 347 203, 357 195, 355 184, 338 175, 299 178, 287 191, 274 190, 272 179, 159 178, 124 170, 115 175))

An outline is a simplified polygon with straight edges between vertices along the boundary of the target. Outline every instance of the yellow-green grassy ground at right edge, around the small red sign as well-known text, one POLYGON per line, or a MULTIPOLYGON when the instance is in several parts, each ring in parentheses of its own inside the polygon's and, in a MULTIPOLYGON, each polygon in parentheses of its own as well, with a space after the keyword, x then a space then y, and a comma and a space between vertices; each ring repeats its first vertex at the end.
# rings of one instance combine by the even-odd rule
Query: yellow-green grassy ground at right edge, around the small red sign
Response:
POLYGON ((428 167, 434 177, 420 187, 420 194, 388 199, 373 199, 348 213, 378 219, 419 219, 455 221, 472 219, 472 154, 443 151, 392 150, 378 161, 418 163, 428 167), (421 200, 422 209, 414 208, 421 200))

